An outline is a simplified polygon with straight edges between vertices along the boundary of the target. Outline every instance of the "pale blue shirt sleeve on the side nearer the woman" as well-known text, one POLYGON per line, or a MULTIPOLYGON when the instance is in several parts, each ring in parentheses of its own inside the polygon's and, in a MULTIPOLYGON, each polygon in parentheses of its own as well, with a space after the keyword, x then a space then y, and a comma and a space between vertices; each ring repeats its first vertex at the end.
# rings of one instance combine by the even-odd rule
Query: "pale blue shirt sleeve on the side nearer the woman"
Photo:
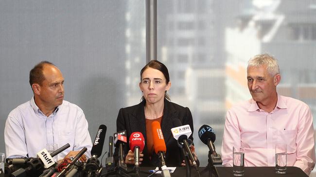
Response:
POLYGON ((73 150, 78 151, 86 147, 88 148, 88 150, 85 152, 85 155, 88 157, 91 157, 92 142, 91 142, 91 137, 88 131, 88 121, 83 111, 82 110, 80 111, 81 112, 80 114, 78 114, 79 116, 77 118, 77 128, 76 128, 73 150))

